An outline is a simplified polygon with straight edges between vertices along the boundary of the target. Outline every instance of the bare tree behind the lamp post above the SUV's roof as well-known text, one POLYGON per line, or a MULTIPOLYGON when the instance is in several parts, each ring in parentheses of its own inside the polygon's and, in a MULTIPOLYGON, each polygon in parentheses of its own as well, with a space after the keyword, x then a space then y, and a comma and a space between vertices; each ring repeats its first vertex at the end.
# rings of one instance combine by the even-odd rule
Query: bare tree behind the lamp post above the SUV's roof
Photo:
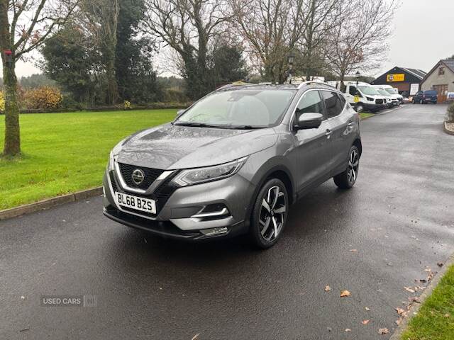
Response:
POLYGON ((283 83, 287 56, 304 30, 304 0, 233 0, 231 6, 251 59, 265 79, 283 83))

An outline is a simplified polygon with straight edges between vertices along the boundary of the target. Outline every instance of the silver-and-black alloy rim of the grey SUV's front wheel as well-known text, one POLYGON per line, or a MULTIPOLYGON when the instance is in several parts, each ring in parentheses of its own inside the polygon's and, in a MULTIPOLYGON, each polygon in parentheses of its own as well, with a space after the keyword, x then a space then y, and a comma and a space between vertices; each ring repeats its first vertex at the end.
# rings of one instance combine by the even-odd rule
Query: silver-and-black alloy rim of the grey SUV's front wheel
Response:
POLYGON ((284 225, 286 211, 284 192, 279 186, 272 186, 262 200, 259 216, 260 234, 266 241, 270 242, 279 235, 284 225))

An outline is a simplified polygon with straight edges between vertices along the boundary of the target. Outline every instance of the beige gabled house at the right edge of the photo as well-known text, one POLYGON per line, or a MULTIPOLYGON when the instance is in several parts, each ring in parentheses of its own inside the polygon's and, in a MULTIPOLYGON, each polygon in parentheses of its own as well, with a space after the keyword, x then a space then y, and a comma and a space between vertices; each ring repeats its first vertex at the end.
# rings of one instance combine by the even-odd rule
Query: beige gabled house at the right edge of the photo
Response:
POLYGON ((421 91, 436 90, 438 103, 446 101, 448 92, 454 92, 454 60, 440 60, 421 81, 421 91))

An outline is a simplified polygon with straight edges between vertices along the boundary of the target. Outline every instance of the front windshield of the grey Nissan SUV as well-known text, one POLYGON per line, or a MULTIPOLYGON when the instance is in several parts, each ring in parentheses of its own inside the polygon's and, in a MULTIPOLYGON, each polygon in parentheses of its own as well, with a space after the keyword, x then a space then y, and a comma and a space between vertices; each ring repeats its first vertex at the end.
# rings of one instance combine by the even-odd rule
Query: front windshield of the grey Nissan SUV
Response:
POLYGON ((238 89, 201 99, 183 113, 175 125, 220 128, 267 128, 279 122, 295 90, 238 89))

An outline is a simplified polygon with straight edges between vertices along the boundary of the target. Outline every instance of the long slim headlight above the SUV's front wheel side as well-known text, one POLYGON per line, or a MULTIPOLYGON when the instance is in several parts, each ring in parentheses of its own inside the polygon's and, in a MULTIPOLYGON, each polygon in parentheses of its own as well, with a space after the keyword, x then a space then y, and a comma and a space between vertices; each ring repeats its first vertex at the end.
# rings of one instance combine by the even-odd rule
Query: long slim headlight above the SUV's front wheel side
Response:
POLYGON ((193 184, 226 179, 236 174, 241 169, 241 166, 245 164, 246 159, 248 157, 216 166, 183 170, 172 181, 179 186, 192 186, 193 184))

